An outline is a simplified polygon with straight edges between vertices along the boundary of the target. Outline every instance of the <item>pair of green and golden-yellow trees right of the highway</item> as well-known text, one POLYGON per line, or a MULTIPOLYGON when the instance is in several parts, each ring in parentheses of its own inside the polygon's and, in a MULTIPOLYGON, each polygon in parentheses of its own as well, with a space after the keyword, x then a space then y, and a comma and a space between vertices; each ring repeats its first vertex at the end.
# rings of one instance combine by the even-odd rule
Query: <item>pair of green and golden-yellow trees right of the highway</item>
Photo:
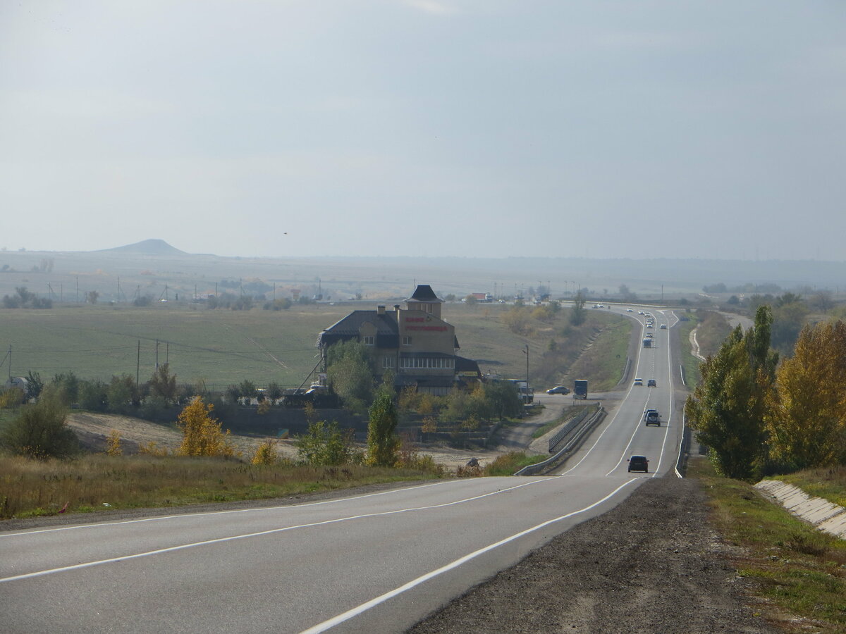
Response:
POLYGON ((696 437, 730 478, 846 464, 846 324, 806 325, 793 356, 771 348, 772 309, 700 364, 685 403, 696 437))

